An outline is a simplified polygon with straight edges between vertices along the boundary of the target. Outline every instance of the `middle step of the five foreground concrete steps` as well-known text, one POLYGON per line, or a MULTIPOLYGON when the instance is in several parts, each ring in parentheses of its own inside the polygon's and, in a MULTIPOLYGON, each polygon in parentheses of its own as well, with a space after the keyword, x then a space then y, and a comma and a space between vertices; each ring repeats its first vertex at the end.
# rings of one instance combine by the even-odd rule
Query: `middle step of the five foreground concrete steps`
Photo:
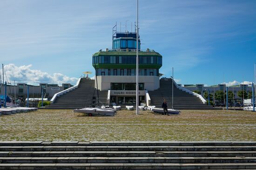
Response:
POLYGON ((0 157, 256 157, 256 151, 0 151, 0 157))

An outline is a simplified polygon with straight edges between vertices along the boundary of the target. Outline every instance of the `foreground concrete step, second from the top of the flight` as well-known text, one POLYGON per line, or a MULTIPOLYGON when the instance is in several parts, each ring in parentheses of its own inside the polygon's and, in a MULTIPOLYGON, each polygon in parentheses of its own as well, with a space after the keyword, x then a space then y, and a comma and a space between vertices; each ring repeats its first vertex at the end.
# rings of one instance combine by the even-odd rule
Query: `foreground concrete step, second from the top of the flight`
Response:
POLYGON ((256 151, 256 146, 0 146, 0 151, 256 151))

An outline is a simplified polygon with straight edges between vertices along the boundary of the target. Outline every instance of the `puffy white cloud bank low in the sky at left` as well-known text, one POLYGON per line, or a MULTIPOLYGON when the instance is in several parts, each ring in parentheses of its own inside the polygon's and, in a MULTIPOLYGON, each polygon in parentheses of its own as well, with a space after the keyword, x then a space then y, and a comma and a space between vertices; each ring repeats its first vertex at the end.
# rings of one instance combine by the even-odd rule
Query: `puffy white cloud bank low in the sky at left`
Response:
POLYGON ((10 82, 14 80, 16 82, 24 82, 31 85, 38 85, 39 83, 52 83, 59 84, 71 83, 76 84, 78 78, 68 77, 61 73, 54 73, 53 75, 48 74, 37 69, 31 69, 32 64, 16 66, 15 64, 7 64, 4 66, 6 71, 7 79, 10 82))

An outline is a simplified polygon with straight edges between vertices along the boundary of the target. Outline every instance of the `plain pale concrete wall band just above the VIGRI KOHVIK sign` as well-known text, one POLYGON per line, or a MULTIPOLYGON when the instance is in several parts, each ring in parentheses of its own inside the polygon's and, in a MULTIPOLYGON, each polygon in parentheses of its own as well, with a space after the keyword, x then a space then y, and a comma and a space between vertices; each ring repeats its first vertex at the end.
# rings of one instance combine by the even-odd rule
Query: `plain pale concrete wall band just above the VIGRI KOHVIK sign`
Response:
MULTIPOLYGON (((136 76, 97 76, 97 80, 99 90, 109 90, 111 82, 136 83, 136 76)), ((158 76, 139 76, 139 83, 144 83, 144 88, 149 91, 156 90, 160 86, 158 76)))

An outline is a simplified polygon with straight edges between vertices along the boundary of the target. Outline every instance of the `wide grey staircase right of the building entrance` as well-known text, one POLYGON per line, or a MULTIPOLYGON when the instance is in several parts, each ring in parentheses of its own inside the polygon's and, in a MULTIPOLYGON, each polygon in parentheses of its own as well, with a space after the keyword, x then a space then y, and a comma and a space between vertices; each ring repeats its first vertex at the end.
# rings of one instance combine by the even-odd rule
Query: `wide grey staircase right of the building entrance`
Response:
MULTIPOLYGON (((160 79, 160 88, 155 91, 148 91, 151 99, 151 106, 162 107, 162 102, 165 99, 169 108, 172 106, 172 79, 160 79)), ((199 97, 189 94, 176 88, 173 88, 173 106, 175 109, 193 109, 193 110, 208 110, 216 109, 215 107, 203 104, 199 97)))

